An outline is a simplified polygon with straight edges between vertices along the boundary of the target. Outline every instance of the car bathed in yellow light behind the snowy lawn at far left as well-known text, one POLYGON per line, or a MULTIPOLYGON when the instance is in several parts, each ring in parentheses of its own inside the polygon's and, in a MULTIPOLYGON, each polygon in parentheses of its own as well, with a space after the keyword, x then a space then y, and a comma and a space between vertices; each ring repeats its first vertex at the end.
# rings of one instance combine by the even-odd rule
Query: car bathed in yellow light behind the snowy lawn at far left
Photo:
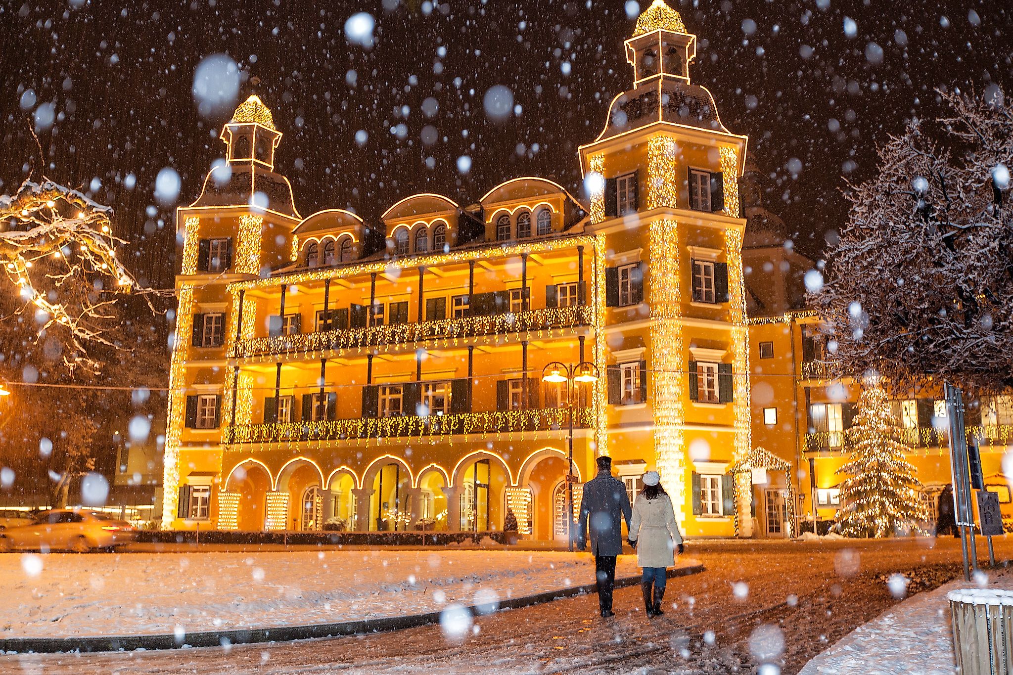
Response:
POLYGON ((73 551, 111 549, 134 540, 135 530, 100 511, 54 509, 27 525, 0 531, 0 553, 10 551, 73 551))

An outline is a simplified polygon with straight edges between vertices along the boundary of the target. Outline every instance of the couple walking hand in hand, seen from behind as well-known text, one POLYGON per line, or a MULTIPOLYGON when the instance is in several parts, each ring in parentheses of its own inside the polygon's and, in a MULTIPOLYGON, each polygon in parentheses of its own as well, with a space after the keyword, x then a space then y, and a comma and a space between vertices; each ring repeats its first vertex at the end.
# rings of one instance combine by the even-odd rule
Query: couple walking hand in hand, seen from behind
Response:
POLYGON ((583 486, 577 521, 577 549, 587 547, 591 530, 591 553, 595 554, 598 603, 603 617, 612 611, 612 589, 616 581, 616 556, 622 553, 622 522, 626 520, 629 544, 636 549, 637 565, 643 568, 640 589, 647 616, 658 616, 665 598, 666 574, 675 565, 675 552, 683 553, 683 535, 676 524, 672 500, 659 483, 657 472, 643 475, 643 490, 630 507, 626 486, 612 476, 612 457, 598 457, 598 476, 583 486))

